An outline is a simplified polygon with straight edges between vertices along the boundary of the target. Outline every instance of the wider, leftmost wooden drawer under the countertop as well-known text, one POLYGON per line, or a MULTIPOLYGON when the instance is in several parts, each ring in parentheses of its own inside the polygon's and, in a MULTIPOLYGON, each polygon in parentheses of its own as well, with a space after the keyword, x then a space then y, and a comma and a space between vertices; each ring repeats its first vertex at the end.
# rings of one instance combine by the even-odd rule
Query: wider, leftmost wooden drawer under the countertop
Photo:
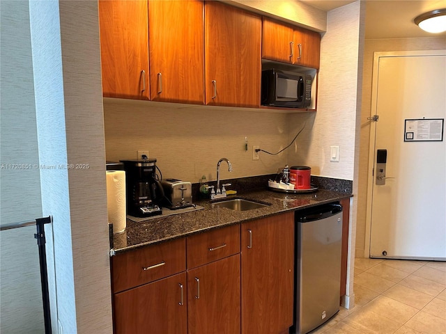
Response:
POLYGON ((113 291, 137 287, 186 269, 185 239, 131 250, 112 257, 113 291))

